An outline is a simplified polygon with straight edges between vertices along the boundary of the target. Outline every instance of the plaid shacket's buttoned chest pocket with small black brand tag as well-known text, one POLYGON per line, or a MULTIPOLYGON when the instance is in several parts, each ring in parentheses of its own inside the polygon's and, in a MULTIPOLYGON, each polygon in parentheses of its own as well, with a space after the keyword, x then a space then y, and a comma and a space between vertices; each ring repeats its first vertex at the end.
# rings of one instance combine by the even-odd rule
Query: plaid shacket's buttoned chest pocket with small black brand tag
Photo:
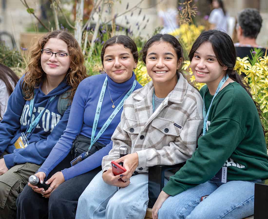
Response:
POLYGON ((157 117, 152 123, 152 127, 155 129, 152 130, 152 136, 157 139, 163 139, 164 137, 168 141, 175 141, 175 139, 180 136, 180 132, 183 129, 183 126, 176 124, 174 121, 157 117))

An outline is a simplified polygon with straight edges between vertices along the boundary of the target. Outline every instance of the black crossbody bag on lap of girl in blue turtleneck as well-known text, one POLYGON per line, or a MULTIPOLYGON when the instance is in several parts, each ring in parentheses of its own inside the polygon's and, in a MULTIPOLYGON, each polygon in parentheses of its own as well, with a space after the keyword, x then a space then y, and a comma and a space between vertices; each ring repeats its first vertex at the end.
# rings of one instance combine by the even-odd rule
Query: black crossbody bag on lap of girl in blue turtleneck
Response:
MULTIPOLYGON (((72 147, 72 157, 73 159, 75 159, 76 157, 78 157, 80 154, 87 152, 88 148, 91 144, 91 138, 85 137, 84 135, 77 135, 75 140, 73 140, 73 147, 72 147)), ((92 145, 90 151, 88 151, 88 156, 94 154, 96 151, 102 149, 103 147, 105 147, 106 145, 103 145, 99 142, 95 142, 94 145, 92 145)))

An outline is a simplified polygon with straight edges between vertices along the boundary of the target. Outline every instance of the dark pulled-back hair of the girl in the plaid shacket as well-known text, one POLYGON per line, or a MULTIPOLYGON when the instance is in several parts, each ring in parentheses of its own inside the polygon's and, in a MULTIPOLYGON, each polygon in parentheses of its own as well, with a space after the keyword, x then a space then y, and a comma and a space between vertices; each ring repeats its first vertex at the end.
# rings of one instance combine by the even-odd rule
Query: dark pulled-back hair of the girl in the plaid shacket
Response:
MULTIPOLYGON (((142 51, 140 51, 140 55, 142 56, 142 61, 144 62, 144 64, 146 64, 146 56, 147 56, 147 51, 148 48, 150 48, 152 46, 153 43, 155 42, 159 42, 159 41, 163 41, 166 43, 169 43, 172 45, 172 47, 174 48, 178 60, 180 58, 183 59, 183 47, 181 46, 181 44, 179 43, 179 41, 176 39, 176 37, 169 35, 169 34, 162 34, 162 33, 158 33, 157 35, 152 36, 144 45, 144 47, 142 48, 142 51)), ((183 63, 183 62, 182 62, 183 63)), ((177 76, 179 77, 179 72, 180 69, 178 69, 176 71, 177 76)))

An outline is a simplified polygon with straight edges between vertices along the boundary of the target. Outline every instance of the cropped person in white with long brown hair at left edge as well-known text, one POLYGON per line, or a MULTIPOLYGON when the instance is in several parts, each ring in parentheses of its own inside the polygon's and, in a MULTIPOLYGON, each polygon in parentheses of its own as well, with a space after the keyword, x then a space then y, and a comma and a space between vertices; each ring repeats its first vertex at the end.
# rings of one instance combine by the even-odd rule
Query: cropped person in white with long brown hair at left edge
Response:
POLYGON ((3 119, 8 105, 8 98, 18 80, 18 76, 9 67, 0 63, 0 120, 3 119))

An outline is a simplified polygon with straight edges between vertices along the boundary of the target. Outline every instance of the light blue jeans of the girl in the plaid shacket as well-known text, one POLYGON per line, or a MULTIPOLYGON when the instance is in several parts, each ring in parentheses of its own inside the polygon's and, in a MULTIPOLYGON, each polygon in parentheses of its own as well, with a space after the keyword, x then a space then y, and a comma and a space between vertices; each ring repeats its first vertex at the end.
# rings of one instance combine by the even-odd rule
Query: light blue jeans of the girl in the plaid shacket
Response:
POLYGON ((87 186, 78 200, 76 219, 144 219, 148 205, 148 173, 130 178, 127 187, 105 183, 102 171, 87 186))

